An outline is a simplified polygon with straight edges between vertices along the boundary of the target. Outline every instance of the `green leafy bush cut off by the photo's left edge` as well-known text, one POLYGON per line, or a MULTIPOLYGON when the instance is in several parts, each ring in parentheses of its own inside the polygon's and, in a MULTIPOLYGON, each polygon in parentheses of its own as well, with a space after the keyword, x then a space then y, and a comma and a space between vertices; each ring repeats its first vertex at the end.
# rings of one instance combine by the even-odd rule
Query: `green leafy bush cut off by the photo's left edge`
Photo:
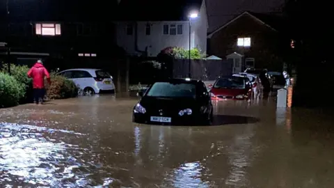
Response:
POLYGON ((0 72, 0 107, 16 106, 23 95, 22 84, 14 77, 0 72))

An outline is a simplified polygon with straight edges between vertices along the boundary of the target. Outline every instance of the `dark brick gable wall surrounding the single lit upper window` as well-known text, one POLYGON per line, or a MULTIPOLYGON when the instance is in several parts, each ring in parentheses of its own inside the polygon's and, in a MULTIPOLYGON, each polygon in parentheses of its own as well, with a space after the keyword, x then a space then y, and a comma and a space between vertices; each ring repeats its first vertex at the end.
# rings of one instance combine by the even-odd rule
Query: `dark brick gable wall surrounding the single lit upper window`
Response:
POLYGON ((255 58, 256 68, 269 68, 282 61, 279 57, 281 41, 280 33, 246 14, 209 38, 209 54, 225 58, 237 52, 246 58, 255 58), (237 47, 238 37, 250 37, 251 47, 237 47))

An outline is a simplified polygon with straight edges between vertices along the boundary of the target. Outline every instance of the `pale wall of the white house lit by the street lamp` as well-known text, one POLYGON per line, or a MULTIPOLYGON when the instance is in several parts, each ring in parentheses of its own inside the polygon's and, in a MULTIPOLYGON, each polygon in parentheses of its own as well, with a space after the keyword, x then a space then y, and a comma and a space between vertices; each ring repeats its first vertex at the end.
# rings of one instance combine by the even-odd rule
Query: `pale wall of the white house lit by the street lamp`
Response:
MULTIPOLYGON (((199 17, 191 20, 191 48, 199 47, 203 52, 207 49, 207 13, 205 1, 202 3, 199 17)), ((128 54, 141 54, 148 49, 148 56, 157 56, 161 49, 166 47, 183 47, 189 49, 189 21, 175 22, 117 22, 116 23, 117 44, 124 48, 128 54), (132 24, 134 33, 128 36, 126 33, 127 24, 132 24), (145 35, 146 24, 151 25, 151 35, 145 35), (182 24, 182 35, 164 35, 164 24, 182 24), (137 29, 136 29, 137 25, 137 29), (137 47, 136 49, 136 33, 137 47)))

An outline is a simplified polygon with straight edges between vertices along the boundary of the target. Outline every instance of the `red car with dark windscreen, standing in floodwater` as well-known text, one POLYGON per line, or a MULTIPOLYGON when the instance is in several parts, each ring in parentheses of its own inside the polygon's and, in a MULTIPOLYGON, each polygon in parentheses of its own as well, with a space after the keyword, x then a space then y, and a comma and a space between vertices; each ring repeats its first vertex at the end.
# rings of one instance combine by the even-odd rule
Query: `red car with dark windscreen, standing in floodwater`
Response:
POLYGON ((219 77, 211 88, 212 100, 248 100, 252 95, 252 84, 248 77, 219 77))

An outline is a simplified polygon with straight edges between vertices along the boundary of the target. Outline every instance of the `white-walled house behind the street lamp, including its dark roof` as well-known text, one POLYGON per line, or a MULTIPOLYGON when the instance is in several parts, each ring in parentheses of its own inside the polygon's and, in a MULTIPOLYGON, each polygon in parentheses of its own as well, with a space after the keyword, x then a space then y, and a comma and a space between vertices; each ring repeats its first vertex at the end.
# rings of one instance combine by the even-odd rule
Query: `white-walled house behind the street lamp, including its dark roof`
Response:
POLYGON ((166 47, 189 49, 190 36, 190 48, 206 52, 208 24, 205 0, 191 2, 120 1, 119 22, 116 22, 117 45, 130 55, 157 56, 166 47), (191 14, 198 14, 198 17, 191 18, 191 14))

